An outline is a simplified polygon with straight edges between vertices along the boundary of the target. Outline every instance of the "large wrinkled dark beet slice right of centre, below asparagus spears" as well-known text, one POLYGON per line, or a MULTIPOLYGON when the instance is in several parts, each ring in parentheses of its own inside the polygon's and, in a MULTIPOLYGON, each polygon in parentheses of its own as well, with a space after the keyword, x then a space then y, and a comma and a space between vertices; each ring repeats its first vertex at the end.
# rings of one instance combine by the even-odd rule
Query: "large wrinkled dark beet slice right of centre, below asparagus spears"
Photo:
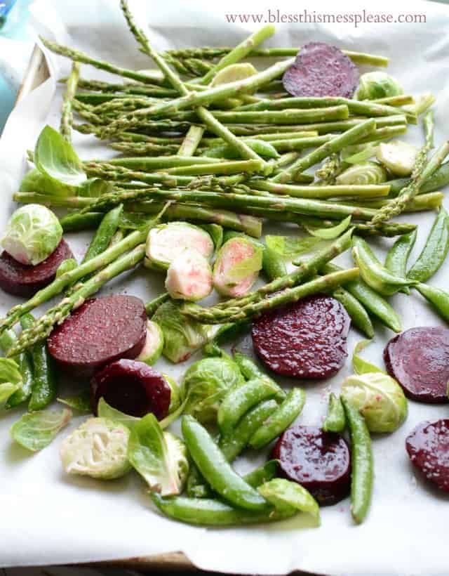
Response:
POLYGON ((296 378, 327 378, 347 357, 349 316, 330 296, 310 296, 253 323, 253 344, 269 369, 296 378))

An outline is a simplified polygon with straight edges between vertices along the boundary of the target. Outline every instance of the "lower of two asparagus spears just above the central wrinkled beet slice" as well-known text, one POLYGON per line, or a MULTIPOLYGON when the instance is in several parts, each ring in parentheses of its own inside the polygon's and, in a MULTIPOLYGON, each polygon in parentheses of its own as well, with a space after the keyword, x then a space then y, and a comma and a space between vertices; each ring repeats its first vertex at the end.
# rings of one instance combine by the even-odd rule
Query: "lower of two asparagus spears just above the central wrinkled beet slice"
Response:
POLYGON ((239 322, 240 320, 254 318, 268 310, 279 308, 279 306, 285 306, 286 304, 297 302, 306 296, 311 296, 311 294, 319 294, 319 292, 333 290, 342 284, 351 282, 351 280, 356 280, 357 278, 358 268, 349 268, 349 270, 321 276, 315 280, 301 284, 300 286, 287 288, 269 298, 248 303, 246 306, 220 310, 220 313, 217 313, 217 310, 214 310, 213 308, 202 308, 193 303, 184 304, 181 311, 183 314, 189 316, 189 318, 194 318, 194 320, 203 322, 204 324, 239 322))

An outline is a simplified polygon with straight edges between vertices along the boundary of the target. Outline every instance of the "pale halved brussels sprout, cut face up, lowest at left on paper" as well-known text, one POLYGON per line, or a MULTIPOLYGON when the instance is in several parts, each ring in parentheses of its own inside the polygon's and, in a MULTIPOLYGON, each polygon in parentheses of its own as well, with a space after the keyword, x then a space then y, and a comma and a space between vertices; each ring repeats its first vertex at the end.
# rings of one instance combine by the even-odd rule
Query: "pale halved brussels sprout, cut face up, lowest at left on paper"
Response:
POLYGON ((130 469, 130 431, 107 418, 89 418, 64 440, 60 447, 62 466, 67 474, 113 480, 130 469))

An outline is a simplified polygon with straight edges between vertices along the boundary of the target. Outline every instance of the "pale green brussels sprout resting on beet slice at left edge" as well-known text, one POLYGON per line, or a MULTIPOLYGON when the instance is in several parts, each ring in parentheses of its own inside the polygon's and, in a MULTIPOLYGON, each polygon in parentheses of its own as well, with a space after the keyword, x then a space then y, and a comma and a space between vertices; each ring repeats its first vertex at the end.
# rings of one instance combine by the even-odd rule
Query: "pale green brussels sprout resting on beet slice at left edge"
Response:
POLYGON ((1 245, 15 260, 36 266, 55 250, 62 238, 62 226, 51 210, 41 204, 27 204, 9 219, 1 245))

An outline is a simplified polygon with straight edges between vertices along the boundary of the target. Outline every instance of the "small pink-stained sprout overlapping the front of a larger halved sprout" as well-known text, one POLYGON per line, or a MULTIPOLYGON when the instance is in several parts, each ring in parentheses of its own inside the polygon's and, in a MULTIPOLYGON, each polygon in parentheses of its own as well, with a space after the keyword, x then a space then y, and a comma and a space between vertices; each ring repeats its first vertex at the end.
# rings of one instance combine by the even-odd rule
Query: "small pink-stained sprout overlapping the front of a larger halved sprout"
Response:
POLYGON ((168 266, 166 289, 175 300, 206 298, 212 292, 210 264, 198 251, 186 248, 168 266))

